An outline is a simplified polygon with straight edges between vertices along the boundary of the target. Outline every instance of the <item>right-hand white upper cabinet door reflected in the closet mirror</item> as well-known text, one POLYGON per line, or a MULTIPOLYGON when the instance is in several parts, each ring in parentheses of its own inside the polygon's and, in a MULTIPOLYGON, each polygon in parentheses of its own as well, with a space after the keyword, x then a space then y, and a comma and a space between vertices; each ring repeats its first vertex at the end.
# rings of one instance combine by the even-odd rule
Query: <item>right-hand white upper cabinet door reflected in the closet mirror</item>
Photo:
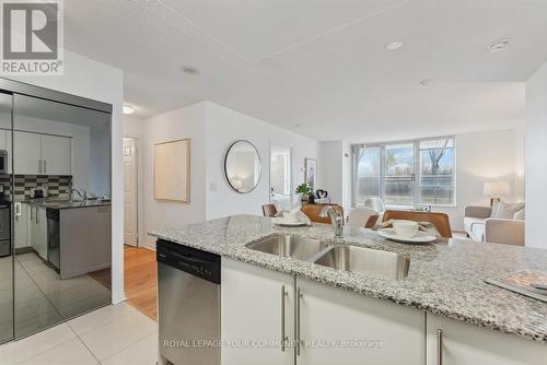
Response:
POLYGON ((60 136, 42 136, 44 175, 71 174, 71 139, 60 136))

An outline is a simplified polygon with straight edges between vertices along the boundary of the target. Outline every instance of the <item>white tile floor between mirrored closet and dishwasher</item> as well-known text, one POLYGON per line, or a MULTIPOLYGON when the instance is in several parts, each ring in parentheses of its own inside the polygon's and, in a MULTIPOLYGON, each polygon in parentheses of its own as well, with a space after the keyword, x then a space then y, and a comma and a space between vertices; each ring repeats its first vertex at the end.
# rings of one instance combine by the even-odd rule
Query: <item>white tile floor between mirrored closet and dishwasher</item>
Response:
POLYGON ((0 364, 152 365, 158 323, 121 303, 0 345, 0 364))

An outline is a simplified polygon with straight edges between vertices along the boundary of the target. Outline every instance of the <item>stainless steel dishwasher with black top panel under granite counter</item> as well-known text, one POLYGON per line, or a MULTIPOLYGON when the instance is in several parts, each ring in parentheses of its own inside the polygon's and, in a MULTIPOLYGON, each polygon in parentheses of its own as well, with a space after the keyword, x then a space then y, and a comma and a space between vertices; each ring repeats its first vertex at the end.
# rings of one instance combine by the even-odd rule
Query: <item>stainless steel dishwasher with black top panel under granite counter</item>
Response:
POLYGON ((220 256, 158 240, 160 362, 220 365, 220 256))

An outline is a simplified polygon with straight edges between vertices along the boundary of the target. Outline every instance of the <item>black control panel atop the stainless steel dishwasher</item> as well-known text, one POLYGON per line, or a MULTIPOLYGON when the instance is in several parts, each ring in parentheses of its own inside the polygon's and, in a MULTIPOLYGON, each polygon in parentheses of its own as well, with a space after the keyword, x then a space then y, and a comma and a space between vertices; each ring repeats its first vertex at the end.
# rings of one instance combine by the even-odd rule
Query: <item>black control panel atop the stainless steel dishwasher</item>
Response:
POLYGON ((220 256, 159 239, 156 260, 195 276, 220 284, 220 256))

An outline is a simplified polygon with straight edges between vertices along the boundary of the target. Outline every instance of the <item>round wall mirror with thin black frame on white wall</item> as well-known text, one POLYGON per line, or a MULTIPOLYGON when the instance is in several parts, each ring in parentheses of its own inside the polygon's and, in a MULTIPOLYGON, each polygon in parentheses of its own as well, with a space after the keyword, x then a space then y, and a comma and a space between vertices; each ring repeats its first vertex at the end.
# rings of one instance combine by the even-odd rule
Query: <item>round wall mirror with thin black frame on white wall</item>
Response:
POLYGON ((236 141, 228 149, 224 173, 228 184, 237 192, 251 192, 260 179, 260 156, 248 141, 236 141))

